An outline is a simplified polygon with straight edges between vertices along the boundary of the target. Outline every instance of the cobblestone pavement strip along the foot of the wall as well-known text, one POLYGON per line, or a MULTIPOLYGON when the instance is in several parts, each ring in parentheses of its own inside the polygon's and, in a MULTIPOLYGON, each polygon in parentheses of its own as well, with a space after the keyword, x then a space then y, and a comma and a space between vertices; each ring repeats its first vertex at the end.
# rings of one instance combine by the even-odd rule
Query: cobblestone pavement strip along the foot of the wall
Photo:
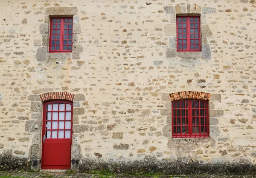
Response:
POLYGON ((256 178, 256 175, 97 175, 60 172, 0 172, 0 178, 256 178))

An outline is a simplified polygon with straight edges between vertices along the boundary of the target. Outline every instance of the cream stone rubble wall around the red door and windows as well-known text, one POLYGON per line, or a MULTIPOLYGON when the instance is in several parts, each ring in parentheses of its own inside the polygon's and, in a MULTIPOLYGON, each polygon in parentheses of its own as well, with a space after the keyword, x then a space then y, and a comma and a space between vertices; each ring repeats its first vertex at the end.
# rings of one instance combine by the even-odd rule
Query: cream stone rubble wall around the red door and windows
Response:
POLYGON ((0 170, 40 169, 48 92, 75 95, 75 171, 255 169, 255 0, 9 0, 1 11, 0 170), (176 14, 191 13, 202 51, 176 52, 176 14), (72 53, 48 53, 56 15, 73 16, 72 53), (183 91, 211 94, 210 138, 172 138, 169 94, 183 91))

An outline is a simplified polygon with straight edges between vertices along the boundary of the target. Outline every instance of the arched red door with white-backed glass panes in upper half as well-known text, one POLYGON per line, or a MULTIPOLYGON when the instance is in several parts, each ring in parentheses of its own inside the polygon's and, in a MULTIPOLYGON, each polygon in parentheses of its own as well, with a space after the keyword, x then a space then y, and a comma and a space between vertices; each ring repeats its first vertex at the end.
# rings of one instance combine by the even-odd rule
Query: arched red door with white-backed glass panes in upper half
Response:
POLYGON ((44 103, 42 169, 70 169, 73 102, 44 103))

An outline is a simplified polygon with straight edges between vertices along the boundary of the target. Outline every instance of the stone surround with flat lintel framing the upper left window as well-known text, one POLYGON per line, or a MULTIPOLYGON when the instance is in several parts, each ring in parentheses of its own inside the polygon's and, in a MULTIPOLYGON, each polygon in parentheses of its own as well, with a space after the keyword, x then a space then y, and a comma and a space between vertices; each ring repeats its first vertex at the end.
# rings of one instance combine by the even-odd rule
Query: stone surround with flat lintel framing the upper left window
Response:
POLYGON ((40 34, 42 34, 43 47, 37 49, 36 58, 38 61, 47 61, 56 58, 80 59, 79 54, 83 52, 83 47, 78 44, 78 34, 81 33, 81 26, 77 13, 77 7, 49 7, 46 9, 44 23, 39 26, 40 34), (50 17, 73 17, 72 52, 49 53, 50 17))

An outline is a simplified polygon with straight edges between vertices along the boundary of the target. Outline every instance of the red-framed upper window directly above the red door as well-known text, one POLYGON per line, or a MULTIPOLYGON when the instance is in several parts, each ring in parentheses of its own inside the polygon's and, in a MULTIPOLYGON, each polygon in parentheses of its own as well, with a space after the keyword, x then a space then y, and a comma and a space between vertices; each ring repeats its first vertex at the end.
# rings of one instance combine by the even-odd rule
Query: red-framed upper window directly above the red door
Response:
POLYGON ((51 18, 49 52, 72 52, 73 17, 51 18))

